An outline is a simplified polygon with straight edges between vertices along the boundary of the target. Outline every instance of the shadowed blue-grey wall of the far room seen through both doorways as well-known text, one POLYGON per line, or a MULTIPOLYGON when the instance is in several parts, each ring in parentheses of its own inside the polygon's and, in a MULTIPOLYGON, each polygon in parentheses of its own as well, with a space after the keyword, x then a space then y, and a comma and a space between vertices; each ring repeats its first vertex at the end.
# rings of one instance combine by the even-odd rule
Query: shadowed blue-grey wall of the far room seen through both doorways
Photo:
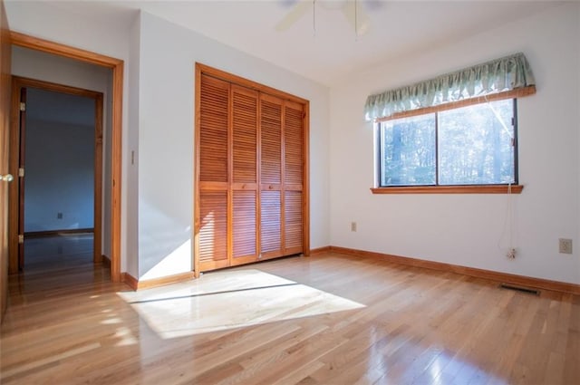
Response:
POLYGON ((92 228, 94 125, 27 120, 25 134, 24 232, 92 228))

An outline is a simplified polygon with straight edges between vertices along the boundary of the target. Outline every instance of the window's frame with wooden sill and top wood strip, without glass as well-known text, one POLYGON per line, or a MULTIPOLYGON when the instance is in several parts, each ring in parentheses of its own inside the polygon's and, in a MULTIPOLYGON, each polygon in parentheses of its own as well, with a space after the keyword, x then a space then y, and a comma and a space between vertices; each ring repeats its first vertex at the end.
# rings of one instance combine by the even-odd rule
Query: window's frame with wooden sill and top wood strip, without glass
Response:
MULTIPOLYGON (((412 111, 395 113, 389 117, 374 120, 374 186, 371 188, 372 194, 520 194, 524 188, 518 180, 518 156, 517 156, 517 99, 523 96, 536 93, 535 86, 527 86, 511 91, 498 92, 477 98, 470 98, 462 101, 454 101, 438 106, 426 107, 412 111), (440 111, 455 110, 474 104, 482 104, 488 101, 501 101, 506 99, 514 100, 514 173, 516 183, 514 184, 495 184, 495 185, 426 185, 426 186, 381 186, 381 123, 387 120, 396 120, 409 118, 412 116, 424 115, 428 113, 437 113, 440 111)), ((437 118, 436 118, 437 124, 437 118)), ((437 130, 436 130, 437 140, 437 130)), ((437 144, 437 142, 436 142, 437 144)), ((436 149, 439 151, 439 149, 436 149)), ((437 159, 437 168, 439 168, 439 157, 437 159)), ((436 169, 439 172, 439 169, 436 169)), ((439 182, 439 178, 437 178, 439 182)))

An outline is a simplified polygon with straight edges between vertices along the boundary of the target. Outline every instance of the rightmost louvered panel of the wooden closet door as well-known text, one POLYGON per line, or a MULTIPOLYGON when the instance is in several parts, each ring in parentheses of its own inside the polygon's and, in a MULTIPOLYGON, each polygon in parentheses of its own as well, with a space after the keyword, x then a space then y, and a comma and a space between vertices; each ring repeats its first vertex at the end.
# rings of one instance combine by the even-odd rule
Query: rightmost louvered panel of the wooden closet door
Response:
POLYGON ((304 109, 285 101, 284 110, 284 243, 285 255, 303 250, 304 109))

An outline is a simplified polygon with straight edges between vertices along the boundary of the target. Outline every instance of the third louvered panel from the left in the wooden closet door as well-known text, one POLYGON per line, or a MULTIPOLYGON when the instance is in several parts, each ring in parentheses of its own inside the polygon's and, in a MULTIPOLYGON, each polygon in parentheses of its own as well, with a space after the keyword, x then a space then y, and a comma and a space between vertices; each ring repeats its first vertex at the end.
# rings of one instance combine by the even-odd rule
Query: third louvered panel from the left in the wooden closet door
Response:
POLYGON ((260 245, 261 257, 284 255, 283 101, 260 95, 260 245))

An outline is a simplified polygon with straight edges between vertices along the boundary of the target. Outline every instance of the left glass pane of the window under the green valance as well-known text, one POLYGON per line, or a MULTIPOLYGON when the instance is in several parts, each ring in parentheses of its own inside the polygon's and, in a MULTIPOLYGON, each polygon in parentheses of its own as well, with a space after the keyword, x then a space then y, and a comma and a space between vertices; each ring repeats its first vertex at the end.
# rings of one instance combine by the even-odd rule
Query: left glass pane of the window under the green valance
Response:
POLYGON ((381 124, 381 186, 434 185, 435 114, 381 124))

